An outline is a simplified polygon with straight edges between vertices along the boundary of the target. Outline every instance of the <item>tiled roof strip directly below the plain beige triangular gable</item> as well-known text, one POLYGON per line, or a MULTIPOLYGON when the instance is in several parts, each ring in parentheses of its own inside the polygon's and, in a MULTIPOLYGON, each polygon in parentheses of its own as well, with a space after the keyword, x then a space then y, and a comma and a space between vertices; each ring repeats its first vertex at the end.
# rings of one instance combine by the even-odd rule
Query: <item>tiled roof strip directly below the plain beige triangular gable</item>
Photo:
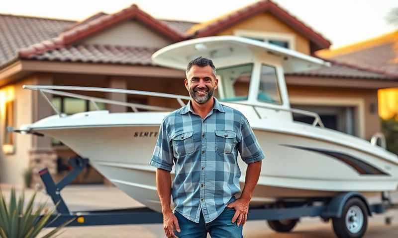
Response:
POLYGON ((76 45, 47 51, 28 59, 69 61, 86 63, 114 63, 153 65, 151 56, 157 48, 112 46, 112 45, 76 45))

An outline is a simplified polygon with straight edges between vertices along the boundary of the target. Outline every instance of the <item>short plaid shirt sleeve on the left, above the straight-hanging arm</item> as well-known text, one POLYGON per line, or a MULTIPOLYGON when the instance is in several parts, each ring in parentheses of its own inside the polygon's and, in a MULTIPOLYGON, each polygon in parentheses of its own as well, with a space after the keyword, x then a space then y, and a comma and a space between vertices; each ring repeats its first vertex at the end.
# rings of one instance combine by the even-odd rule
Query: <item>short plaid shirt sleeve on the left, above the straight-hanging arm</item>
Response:
POLYGON ((173 159, 173 148, 171 147, 170 139, 167 135, 166 119, 163 119, 150 165, 159 169, 171 171, 173 168, 173 159))

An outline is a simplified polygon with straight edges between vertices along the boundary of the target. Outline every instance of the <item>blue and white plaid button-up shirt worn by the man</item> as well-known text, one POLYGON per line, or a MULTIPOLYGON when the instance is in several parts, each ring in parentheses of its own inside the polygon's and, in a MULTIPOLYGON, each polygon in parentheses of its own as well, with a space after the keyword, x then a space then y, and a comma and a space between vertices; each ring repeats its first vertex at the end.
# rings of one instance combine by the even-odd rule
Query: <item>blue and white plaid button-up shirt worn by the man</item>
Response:
POLYGON ((218 103, 201 119, 191 102, 163 119, 150 164, 171 171, 175 211, 199 223, 200 210, 209 223, 240 192, 238 151, 249 164, 264 159, 247 119, 218 103))

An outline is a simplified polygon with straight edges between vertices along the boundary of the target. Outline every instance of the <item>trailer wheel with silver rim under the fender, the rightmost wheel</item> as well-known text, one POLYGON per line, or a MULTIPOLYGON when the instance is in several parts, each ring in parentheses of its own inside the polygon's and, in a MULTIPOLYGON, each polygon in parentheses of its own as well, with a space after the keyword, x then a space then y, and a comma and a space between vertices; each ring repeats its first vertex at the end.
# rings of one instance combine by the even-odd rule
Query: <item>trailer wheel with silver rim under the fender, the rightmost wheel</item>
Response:
POLYGON ((361 238, 368 228, 368 210, 359 198, 349 199, 340 218, 333 218, 333 230, 338 238, 361 238))

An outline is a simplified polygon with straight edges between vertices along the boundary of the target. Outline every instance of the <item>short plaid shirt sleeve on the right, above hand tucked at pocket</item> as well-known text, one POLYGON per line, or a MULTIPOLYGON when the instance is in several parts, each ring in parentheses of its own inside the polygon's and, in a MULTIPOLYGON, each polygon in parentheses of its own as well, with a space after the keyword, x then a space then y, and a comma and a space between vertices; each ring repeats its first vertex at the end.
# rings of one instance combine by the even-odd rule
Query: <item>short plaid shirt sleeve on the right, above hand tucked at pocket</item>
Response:
POLYGON ((238 143, 238 150, 240 157, 246 164, 254 163, 265 158, 263 150, 261 149, 256 136, 249 121, 242 115, 240 126, 242 135, 241 141, 238 143))

